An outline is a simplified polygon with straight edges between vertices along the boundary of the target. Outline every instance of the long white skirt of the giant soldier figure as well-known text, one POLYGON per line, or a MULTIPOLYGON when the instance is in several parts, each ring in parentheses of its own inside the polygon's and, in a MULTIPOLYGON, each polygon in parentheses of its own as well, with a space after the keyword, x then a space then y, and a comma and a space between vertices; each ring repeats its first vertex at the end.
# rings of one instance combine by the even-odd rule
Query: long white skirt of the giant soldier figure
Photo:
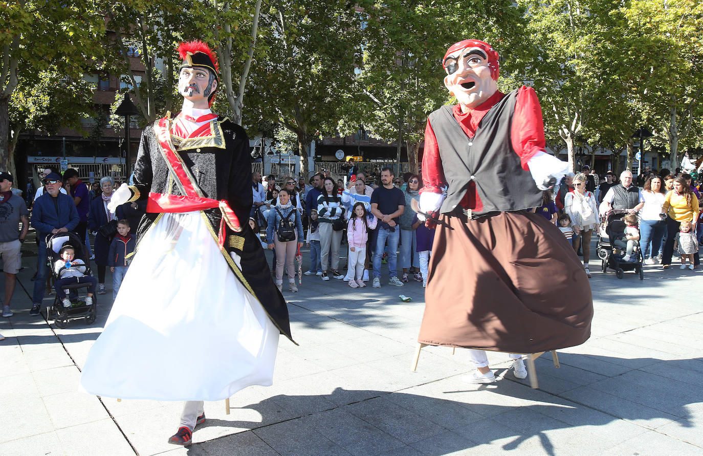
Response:
POLYGON ((166 213, 139 243, 81 375, 91 394, 221 400, 269 386, 278 329, 202 213, 166 213))

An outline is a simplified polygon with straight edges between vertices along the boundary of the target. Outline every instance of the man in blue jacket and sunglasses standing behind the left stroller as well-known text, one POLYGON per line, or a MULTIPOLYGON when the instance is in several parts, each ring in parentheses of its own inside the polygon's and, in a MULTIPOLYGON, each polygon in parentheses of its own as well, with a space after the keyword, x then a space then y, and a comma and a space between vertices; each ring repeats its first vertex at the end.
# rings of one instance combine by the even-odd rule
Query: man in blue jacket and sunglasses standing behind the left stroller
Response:
POLYGON ((41 301, 44 300, 46 274, 49 273, 46 267, 46 236, 73 231, 80 221, 73 198, 60 193, 61 176, 51 172, 44 178, 44 184, 46 191, 34 201, 32 208, 32 227, 39 237, 39 262, 30 315, 39 315, 41 301))

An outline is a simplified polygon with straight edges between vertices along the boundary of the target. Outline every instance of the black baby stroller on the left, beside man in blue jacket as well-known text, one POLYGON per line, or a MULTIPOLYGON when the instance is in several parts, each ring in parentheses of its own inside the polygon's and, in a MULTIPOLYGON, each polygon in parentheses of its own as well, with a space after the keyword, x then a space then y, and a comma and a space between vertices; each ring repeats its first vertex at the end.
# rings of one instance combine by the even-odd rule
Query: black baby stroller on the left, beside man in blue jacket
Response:
MULTIPOLYGON (((61 259, 58 252, 64 244, 75 248, 75 259, 83 260, 86 264, 85 274, 91 275, 87 251, 79 236, 72 232, 56 233, 46 236, 46 262, 51 270, 53 279, 55 281, 60 279, 53 265, 61 259)), ((88 289, 90 286, 91 284, 70 284, 65 286, 64 289, 68 290, 67 298, 71 301, 71 307, 64 307, 58 296, 55 296, 53 305, 46 309, 46 319, 51 319, 52 313, 56 314, 53 315, 53 322, 57 327, 62 329, 68 326, 68 322, 71 319, 84 318, 87 324, 93 324, 97 316, 98 297, 96 294, 93 294, 93 304, 89 306, 85 304, 84 300, 78 297, 79 289, 88 289)))

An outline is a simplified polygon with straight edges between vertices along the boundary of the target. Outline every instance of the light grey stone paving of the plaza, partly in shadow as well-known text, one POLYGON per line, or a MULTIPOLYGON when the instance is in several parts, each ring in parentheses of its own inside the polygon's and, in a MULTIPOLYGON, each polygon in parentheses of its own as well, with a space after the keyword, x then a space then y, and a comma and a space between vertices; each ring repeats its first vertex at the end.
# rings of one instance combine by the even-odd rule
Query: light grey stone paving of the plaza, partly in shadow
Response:
POLYGON ((2 456, 703 455, 703 272, 647 266, 644 281, 619 280, 592 260, 593 335, 559 351, 560 369, 550 353, 539 358, 537 390, 506 372, 504 353, 490 356, 494 384, 462 381, 460 349, 425 348, 411 372, 418 282, 388 285, 385 266, 380 289, 304 277, 299 293, 284 291, 299 346, 280 338, 273 386, 240 391, 230 414, 224 401, 205 403, 207 421, 180 448, 167 438, 182 403, 77 389, 110 310, 109 270, 95 324, 58 329, 45 310, 29 315, 33 250, 25 243, 15 315, 0 320, 2 456))

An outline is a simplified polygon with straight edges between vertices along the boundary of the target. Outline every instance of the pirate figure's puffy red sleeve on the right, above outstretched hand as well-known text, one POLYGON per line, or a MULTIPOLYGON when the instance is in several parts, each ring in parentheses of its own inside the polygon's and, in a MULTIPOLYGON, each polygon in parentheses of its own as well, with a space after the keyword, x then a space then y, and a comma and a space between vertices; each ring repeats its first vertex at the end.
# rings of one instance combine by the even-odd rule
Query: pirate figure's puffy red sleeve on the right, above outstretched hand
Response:
POLYGON ((517 91, 510 141, 512 148, 520 156, 522 169, 526 171, 527 161, 537 152, 545 150, 542 108, 532 87, 522 86, 517 91))

